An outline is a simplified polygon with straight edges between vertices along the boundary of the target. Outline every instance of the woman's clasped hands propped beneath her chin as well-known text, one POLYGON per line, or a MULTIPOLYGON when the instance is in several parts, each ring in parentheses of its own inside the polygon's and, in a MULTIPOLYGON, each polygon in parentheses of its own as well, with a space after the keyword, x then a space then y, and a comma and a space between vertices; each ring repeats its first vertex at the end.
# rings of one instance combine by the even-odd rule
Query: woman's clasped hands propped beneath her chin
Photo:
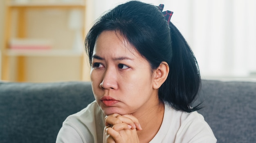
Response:
POLYGON ((142 130, 139 121, 132 115, 112 114, 105 117, 105 143, 139 143, 137 130, 142 130))

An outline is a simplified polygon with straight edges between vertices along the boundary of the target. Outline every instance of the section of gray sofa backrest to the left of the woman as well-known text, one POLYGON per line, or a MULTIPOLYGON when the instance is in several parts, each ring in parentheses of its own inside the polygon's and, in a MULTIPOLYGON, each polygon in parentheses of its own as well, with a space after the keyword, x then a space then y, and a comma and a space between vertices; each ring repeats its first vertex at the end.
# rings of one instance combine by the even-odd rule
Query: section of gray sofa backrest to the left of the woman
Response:
POLYGON ((55 143, 65 118, 93 100, 90 82, 0 82, 0 142, 55 143))

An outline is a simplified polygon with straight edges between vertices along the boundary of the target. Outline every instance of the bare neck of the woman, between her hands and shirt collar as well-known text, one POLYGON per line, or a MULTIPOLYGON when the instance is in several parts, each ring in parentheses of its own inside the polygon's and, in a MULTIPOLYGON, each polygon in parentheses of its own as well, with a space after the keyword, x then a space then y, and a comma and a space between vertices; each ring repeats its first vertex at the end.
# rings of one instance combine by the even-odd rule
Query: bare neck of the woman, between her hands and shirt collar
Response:
POLYGON ((143 114, 133 114, 139 120, 142 128, 137 132, 140 143, 148 143, 157 134, 164 118, 164 103, 158 102, 144 111, 143 114))

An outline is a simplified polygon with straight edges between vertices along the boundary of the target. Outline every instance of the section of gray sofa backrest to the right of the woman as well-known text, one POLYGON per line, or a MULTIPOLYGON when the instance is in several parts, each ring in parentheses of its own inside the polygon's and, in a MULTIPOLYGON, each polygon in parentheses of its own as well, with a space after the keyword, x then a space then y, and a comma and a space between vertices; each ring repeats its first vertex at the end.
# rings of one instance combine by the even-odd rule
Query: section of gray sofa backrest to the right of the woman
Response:
POLYGON ((256 141, 256 83, 203 80, 198 112, 212 128, 218 143, 256 141))

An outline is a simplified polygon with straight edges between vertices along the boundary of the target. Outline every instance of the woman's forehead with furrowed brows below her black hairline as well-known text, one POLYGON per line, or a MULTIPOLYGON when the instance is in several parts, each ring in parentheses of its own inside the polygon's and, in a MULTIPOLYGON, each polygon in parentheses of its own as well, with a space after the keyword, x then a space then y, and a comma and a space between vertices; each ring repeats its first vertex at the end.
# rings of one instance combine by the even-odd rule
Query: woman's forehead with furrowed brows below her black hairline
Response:
POLYGON ((150 63, 124 36, 115 31, 103 31, 97 38, 92 60, 126 61, 133 67, 151 69, 150 63))

